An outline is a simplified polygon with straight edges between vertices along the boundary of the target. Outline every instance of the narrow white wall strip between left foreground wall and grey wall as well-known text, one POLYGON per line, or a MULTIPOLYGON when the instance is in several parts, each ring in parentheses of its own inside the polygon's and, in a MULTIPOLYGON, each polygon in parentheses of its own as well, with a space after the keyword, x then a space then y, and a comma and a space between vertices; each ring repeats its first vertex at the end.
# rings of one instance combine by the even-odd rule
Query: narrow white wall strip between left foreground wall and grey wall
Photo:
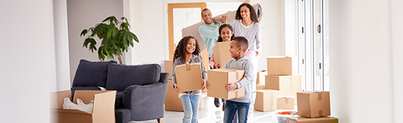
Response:
POLYGON ((69 33, 67 29, 67 1, 54 0, 54 42, 56 46, 57 90, 70 90, 69 33))

